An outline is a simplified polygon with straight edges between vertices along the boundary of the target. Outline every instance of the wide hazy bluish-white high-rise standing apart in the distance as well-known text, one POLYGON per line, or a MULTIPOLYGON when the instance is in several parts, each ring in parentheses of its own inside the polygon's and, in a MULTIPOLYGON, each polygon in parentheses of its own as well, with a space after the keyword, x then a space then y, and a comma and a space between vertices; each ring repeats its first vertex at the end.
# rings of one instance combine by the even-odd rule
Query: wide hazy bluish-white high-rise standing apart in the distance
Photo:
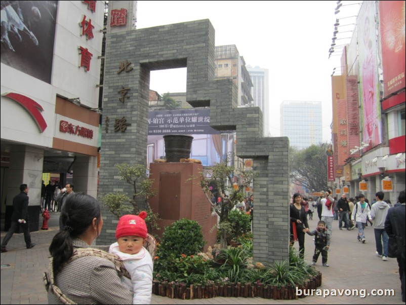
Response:
POLYGON ((280 104, 280 135, 298 149, 322 142, 321 102, 283 101, 280 104))

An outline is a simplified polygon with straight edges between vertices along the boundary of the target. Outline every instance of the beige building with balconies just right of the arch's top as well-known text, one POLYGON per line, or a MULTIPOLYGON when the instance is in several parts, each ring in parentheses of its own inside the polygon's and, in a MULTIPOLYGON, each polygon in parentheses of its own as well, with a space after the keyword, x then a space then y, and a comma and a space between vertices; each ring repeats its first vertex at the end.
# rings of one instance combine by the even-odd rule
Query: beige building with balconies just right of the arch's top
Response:
POLYGON ((217 46, 215 59, 215 77, 232 79, 238 87, 238 105, 247 105, 253 101, 251 88, 253 83, 246 62, 239 56, 235 45, 217 46))

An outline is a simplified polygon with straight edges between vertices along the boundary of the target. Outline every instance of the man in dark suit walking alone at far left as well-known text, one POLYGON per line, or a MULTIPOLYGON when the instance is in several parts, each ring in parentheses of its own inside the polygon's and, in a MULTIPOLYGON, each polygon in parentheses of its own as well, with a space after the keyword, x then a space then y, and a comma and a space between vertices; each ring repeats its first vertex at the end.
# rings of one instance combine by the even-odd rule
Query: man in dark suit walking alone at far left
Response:
POLYGON ((28 217, 28 186, 27 184, 20 185, 20 194, 13 199, 13 214, 11 215, 11 226, 9 232, 2 242, 2 252, 7 252, 7 244, 13 234, 18 230, 19 224, 23 229, 24 241, 27 249, 31 249, 35 244, 31 243, 31 235, 29 234, 29 217, 28 217))

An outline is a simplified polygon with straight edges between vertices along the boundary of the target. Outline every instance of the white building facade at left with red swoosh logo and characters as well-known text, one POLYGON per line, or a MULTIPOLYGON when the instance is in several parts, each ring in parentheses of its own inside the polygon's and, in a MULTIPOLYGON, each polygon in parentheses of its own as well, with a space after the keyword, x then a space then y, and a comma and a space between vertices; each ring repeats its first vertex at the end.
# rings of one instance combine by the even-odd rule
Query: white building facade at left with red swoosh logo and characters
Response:
POLYGON ((27 184, 31 231, 43 173, 59 174, 61 184, 73 174, 75 191, 97 196, 104 9, 102 1, 2 2, 2 16, 24 23, 2 33, 2 213, 9 219, 27 184))

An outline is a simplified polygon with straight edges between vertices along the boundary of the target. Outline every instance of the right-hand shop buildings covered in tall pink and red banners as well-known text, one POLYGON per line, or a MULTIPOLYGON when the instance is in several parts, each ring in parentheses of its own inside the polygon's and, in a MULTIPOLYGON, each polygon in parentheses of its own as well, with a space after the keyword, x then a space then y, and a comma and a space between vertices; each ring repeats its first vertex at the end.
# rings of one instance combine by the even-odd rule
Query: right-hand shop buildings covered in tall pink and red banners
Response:
POLYGON ((364 1, 332 76, 337 192, 396 203, 405 185, 404 1, 364 1), (398 39, 394 39, 397 37, 398 39), (336 120, 336 121, 335 121, 336 120))

